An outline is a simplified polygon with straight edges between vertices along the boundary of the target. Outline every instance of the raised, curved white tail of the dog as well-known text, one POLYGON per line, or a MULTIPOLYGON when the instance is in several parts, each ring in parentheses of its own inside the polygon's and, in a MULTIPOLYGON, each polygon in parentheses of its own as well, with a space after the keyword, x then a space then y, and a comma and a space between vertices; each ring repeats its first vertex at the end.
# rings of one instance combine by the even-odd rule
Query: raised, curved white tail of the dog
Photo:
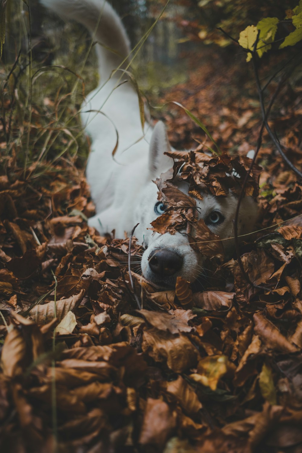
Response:
MULTIPOLYGON (((40 0, 59 16, 85 25, 97 42, 101 82, 120 67, 130 53, 129 38, 115 10, 105 0, 40 0)), ((120 74, 117 74, 119 77, 120 74)))

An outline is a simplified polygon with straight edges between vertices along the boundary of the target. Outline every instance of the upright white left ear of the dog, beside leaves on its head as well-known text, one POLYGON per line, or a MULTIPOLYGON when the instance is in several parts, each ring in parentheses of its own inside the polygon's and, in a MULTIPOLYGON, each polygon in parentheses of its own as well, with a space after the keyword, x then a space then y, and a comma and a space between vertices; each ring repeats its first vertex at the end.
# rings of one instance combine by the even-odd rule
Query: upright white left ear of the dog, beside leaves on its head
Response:
POLYGON ((167 156, 166 151, 171 151, 165 125, 162 121, 156 123, 149 147, 149 171, 151 178, 157 178, 161 173, 173 167, 173 159, 167 156))

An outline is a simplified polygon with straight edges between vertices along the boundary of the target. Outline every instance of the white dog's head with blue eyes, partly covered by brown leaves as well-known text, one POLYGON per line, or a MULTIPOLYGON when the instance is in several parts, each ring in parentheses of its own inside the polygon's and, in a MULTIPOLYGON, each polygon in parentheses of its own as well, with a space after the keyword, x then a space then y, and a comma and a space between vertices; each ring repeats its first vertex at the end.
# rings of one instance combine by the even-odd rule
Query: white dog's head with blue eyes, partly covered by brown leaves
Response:
MULTIPOLYGON (((164 152, 171 151, 163 123, 154 128, 149 150, 150 183, 147 183, 138 196, 135 207, 135 222, 139 223, 135 235, 145 246, 141 268, 144 277, 160 287, 174 287, 178 276, 194 281, 202 274, 206 257, 190 246, 185 231, 175 234, 154 232, 150 223, 165 212, 165 205, 158 201, 158 188, 151 180, 173 166, 173 159, 164 152)), ((189 186, 181 178, 173 181, 177 188, 187 193, 189 186)), ((208 229, 223 241, 225 254, 234 248, 234 217, 237 198, 230 192, 226 197, 216 197, 203 192, 202 199, 195 198, 198 217, 203 219, 208 229)), ((238 234, 252 231, 257 216, 257 203, 251 197, 244 197, 240 207, 238 234)))

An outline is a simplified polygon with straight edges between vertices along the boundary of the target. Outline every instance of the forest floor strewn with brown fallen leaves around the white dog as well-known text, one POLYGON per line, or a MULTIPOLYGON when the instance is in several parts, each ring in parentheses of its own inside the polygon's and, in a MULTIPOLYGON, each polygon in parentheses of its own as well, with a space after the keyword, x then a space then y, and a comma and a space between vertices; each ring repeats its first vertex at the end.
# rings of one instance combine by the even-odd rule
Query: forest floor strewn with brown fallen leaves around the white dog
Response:
MULTIPOLYGON (((173 146, 198 146, 197 157, 213 146, 177 101, 245 174, 261 115, 251 68, 234 53, 203 48, 186 83, 149 100, 163 104, 154 113, 173 146)), ((1 452, 301 452, 302 184, 267 133, 260 180, 254 167, 246 189, 260 187, 256 232, 240 242, 249 282, 217 240, 202 249, 198 290, 158 291, 140 275, 135 237, 129 249, 129 238, 87 226, 77 100, 43 87, 16 96, 18 67, 1 72, 1 452)), ((81 77, 58 74, 81 91, 81 77)), ((269 124, 300 169, 301 120, 302 87, 288 82, 269 124)), ((204 165, 215 176, 221 158, 204 165)))

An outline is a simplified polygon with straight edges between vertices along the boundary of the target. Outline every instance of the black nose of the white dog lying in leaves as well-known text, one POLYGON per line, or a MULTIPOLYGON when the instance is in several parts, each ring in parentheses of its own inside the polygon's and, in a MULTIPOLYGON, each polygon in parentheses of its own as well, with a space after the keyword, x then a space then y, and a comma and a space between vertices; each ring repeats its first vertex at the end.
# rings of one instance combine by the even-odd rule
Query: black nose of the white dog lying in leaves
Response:
POLYGON ((182 267, 182 257, 168 249, 155 249, 149 255, 149 266, 154 274, 170 277, 182 267))

